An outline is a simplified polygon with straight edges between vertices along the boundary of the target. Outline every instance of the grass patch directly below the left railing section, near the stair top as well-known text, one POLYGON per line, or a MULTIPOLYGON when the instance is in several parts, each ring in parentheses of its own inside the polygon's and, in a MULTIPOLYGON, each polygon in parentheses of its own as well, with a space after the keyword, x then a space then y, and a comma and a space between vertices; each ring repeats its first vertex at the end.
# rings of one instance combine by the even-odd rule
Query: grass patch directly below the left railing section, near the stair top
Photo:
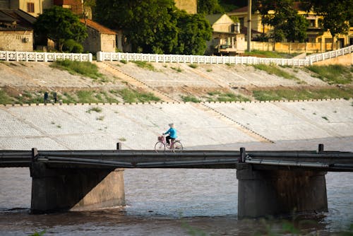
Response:
POLYGON ((54 61, 50 67, 66 70, 73 75, 82 75, 89 78, 97 80, 99 78, 104 78, 102 73, 98 72, 98 67, 92 64, 90 61, 54 61))

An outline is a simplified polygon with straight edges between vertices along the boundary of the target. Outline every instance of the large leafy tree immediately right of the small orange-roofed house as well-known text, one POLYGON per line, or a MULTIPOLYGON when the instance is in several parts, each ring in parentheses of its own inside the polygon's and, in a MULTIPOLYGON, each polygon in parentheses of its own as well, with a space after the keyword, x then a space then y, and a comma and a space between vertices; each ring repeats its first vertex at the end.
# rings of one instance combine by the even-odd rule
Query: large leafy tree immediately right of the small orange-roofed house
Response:
POLYGON ((160 53, 177 45, 175 10, 173 0, 97 1, 95 19, 122 30, 133 52, 160 53))

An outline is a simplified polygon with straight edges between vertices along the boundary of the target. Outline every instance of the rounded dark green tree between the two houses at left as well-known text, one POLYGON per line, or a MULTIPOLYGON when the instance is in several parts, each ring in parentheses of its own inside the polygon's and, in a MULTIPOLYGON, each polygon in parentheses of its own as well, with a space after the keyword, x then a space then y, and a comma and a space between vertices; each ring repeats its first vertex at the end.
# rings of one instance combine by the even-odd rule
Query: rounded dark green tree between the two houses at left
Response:
POLYGON ((44 9, 35 22, 34 28, 37 34, 56 42, 60 52, 65 40, 83 42, 88 36, 85 25, 80 23, 78 16, 60 6, 44 9))

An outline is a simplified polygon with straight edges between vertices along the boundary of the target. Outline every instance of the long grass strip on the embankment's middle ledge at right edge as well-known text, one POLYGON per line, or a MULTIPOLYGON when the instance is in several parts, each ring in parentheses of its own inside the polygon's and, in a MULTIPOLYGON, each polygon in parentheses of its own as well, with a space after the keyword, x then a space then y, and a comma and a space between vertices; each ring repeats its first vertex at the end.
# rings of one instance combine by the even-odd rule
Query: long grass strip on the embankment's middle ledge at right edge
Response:
POLYGON ((309 100, 330 98, 353 98, 353 88, 320 88, 320 89, 282 89, 282 90, 253 90, 256 100, 309 100))

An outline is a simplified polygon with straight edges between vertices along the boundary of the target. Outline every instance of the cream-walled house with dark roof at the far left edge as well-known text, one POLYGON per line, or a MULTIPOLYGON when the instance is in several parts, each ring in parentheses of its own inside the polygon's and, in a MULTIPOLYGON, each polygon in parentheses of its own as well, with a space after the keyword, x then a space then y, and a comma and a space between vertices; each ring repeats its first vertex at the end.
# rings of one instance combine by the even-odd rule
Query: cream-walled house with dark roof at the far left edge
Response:
POLYGON ((0 50, 32 52, 35 20, 21 10, 0 9, 0 50))

